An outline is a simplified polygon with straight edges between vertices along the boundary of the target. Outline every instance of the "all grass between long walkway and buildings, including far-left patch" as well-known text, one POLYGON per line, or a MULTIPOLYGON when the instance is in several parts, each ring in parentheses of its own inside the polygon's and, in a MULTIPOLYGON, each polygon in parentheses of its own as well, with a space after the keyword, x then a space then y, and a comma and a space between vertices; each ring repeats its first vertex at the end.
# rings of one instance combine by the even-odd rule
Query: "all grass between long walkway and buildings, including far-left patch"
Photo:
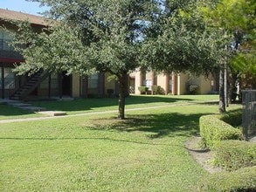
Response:
MULTIPOLYGON (((185 95, 185 96, 163 96, 163 95, 132 95, 126 99, 126 108, 138 108, 148 106, 166 106, 182 102, 216 100, 218 95, 185 95)), ((67 114, 90 113, 99 111, 112 111, 118 109, 117 98, 104 99, 74 99, 74 100, 40 100, 31 101, 32 106, 45 107, 50 111, 65 111, 67 114)), ((28 110, 19 109, 14 106, 0 104, 0 120, 31 118, 43 116, 28 110)))

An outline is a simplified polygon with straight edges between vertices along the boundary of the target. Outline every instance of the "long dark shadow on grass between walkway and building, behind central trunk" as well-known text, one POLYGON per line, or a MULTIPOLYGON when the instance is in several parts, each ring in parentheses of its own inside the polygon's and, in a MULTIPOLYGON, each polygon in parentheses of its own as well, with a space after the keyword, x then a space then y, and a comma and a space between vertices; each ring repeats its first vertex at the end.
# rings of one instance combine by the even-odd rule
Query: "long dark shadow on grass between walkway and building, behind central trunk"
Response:
MULTIPOLYGON (((174 103, 178 101, 190 101, 192 99, 181 99, 174 97, 164 97, 164 96, 129 96, 126 98, 126 106, 136 105, 136 104, 147 104, 147 103, 174 103)), ((75 111, 87 111, 100 107, 116 107, 118 106, 117 98, 100 98, 100 99, 74 99, 74 100, 61 100, 61 101, 33 101, 31 102, 33 106, 45 107, 47 110, 57 110, 65 112, 75 112, 75 111)), ((113 109, 112 108, 112 109, 113 109)), ((115 109, 115 108, 114 108, 115 109)))

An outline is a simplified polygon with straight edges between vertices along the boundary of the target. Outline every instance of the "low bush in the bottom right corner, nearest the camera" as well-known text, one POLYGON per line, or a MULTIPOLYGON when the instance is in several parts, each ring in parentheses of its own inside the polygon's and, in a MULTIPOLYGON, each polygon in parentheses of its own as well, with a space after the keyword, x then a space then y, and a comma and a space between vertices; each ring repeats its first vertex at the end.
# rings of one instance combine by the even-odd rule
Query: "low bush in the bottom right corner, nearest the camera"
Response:
POLYGON ((256 166, 205 177, 197 191, 256 191, 256 166))

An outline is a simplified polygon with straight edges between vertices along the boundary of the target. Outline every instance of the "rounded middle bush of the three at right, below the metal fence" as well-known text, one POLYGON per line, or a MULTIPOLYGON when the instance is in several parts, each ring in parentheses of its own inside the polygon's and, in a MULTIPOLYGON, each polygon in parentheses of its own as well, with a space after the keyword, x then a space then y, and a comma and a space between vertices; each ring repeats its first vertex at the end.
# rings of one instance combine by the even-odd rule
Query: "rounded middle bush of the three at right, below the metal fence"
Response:
POLYGON ((256 165, 256 144, 248 141, 220 141, 214 148, 214 164, 228 171, 256 165))

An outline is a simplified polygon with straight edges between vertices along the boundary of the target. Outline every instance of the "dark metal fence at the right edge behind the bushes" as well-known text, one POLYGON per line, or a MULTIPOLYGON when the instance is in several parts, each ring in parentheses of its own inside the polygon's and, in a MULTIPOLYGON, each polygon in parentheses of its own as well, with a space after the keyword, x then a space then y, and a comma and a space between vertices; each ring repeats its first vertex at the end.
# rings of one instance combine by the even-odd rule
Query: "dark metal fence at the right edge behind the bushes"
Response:
POLYGON ((243 133, 246 138, 256 135, 256 90, 242 91, 243 133))

